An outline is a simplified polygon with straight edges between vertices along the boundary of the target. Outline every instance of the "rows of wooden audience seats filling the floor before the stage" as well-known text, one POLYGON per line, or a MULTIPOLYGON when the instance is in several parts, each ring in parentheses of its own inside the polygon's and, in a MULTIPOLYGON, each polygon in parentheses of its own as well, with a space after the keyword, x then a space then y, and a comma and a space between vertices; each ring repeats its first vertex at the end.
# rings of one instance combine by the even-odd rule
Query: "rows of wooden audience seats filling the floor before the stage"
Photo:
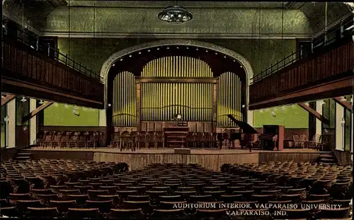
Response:
POLYGON ((282 217, 344 219, 350 217, 348 201, 353 197, 352 167, 320 163, 224 165, 222 172, 171 163, 132 171, 122 163, 89 161, 7 161, 1 166, 1 202, 5 206, 0 211, 10 216, 231 219, 226 214, 229 209, 219 208, 220 203, 246 203, 256 210, 256 203, 267 202, 342 204, 336 210, 290 209, 282 217), (17 192, 11 192, 13 188, 17 192), (3 194, 3 190, 9 193, 3 194), (216 208, 173 208, 173 204, 198 202, 216 208))

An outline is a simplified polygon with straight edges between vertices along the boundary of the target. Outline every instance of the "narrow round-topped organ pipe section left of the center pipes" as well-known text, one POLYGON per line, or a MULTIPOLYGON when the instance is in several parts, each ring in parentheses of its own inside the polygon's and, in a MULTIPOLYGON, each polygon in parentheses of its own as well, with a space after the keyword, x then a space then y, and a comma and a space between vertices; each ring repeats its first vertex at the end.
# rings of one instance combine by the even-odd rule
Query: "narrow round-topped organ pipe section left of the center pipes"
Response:
POLYGON ((113 81, 113 126, 136 126, 136 85, 135 76, 120 72, 113 81))

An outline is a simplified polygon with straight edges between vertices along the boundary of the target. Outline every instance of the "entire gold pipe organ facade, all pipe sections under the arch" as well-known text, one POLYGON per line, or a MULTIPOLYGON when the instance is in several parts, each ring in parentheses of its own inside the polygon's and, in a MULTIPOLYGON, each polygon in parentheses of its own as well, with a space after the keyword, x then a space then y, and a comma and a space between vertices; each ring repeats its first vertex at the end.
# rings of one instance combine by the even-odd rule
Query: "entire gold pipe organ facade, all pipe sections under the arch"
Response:
POLYGON ((230 127, 234 125, 228 114, 242 120, 242 95, 241 79, 232 72, 216 79, 200 59, 161 57, 147 63, 140 78, 128 71, 115 76, 113 126, 139 127, 141 122, 170 121, 178 114, 184 121, 230 127))

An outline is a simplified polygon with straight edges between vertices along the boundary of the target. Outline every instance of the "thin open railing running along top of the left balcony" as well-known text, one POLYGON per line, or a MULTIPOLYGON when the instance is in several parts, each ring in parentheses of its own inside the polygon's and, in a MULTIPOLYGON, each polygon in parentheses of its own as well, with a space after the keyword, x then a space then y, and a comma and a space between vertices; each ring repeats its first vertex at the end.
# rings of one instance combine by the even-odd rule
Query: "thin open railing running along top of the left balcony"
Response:
POLYGON ((102 81, 102 77, 99 74, 96 74, 95 71, 88 69, 87 66, 84 66, 79 62, 75 62, 74 59, 71 59, 67 54, 62 54, 59 52, 59 49, 51 47, 49 44, 40 43, 38 36, 28 33, 25 29, 18 29, 17 33, 20 34, 16 34, 16 36, 7 35, 5 28, 4 40, 19 41, 23 43, 23 45, 30 47, 30 50, 36 50, 42 54, 46 54, 47 57, 51 57, 57 62, 61 62, 62 64, 65 64, 65 66, 68 66, 81 74, 98 81, 102 81))

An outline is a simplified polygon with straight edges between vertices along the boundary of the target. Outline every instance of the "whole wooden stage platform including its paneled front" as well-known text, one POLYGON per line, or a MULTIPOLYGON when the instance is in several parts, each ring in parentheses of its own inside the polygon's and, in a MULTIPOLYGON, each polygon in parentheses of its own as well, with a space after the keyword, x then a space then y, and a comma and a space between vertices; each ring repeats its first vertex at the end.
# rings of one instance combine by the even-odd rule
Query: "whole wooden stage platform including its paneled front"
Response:
POLYGON ((313 149, 284 149, 283 151, 263 151, 248 149, 191 149, 190 154, 175 154, 173 149, 137 149, 120 151, 108 147, 96 149, 59 149, 33 147, 23 149, 31 153, 33 159, 72 159, 87 161, 125 162, 131 170, 144 168, 151 163, 198 163, 211 170, 220 170, 224 163, 261 163, 265 161, 316 161, 320 152, 313 149))

